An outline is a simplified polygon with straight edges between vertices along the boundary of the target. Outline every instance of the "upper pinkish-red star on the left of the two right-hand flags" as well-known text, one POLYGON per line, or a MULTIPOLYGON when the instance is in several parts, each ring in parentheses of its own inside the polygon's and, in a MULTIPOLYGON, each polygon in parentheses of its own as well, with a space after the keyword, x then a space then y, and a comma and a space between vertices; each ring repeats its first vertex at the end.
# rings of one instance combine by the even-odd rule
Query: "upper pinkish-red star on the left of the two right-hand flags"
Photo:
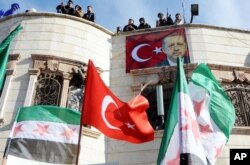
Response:
POLYGON ((182 110, 181 112, 183 113, 184 116, 187 117, 186 121, 188 121, 186 124, 184 124, 181 127, 181 131, 191 130, 193 132, 195 141, 198 142, 198 140, 200 138, 200 133, 199 133, 199 127, 197 124, 197 120, 193 119, 192 116, 186 110, 182 110))

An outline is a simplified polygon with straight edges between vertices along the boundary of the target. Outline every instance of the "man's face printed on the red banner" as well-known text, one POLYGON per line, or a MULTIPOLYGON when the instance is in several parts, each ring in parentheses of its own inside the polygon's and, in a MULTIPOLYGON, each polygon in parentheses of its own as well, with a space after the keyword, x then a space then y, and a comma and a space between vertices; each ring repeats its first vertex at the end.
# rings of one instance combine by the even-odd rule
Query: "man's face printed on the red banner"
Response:
POLYGON ((167 36, 163 39, 162 50, 168 58, 183 57, 187 51, 187 44, 182 35, 167 36))

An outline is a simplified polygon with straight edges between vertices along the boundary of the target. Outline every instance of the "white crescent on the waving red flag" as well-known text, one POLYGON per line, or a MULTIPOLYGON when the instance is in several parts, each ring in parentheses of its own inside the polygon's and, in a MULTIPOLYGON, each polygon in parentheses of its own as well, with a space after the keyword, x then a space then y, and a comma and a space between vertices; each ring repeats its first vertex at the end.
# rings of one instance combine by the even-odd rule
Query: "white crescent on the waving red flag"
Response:
POLYGON ((113 98, 111 96, 107 95, 103 98, 103 101, 102 101, 102 119, 105 122, 105 124, 107 125, 107 127, 109 127, 110 129, 120 130, 120 128, 117 128, 117 127, 111 125, 108 122, 107 118, 105 117, 105 112, 107 110, 107 107, 111 103, 113 103, 118 109, 118 105, 116 104, 116 102, 113 100, 113 98))

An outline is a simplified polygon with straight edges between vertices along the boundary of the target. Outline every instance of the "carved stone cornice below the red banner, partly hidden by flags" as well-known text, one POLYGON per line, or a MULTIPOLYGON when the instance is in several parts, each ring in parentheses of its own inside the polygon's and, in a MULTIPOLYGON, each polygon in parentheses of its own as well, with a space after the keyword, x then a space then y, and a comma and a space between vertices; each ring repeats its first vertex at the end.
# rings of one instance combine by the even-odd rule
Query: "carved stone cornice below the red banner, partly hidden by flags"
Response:
MULTIPOLYGON (((184 65, 184 71, 188 79, 191 77, 197 65, 197 63, 184 65)), ((250 84, 250 67, 234 67, 218 64, 208 64, 208 66, 220 83, 235 82, 250 84)), ((135 84, 131 85, 132 90, 138 91, 140 90, 141 84, 149 82, 148 77, 152 75, 157 76, 157 78, 155 78, 156 80, 152 82, 151 85, 159 83, 173 84, 176 76, 176 66, 131 70, 129 74, 131 74, 135 80, 135 84), (142 77, 144 77, 144 79, 141 79, 142 77), (142 80, 145 80, 145 82, 142 80)))

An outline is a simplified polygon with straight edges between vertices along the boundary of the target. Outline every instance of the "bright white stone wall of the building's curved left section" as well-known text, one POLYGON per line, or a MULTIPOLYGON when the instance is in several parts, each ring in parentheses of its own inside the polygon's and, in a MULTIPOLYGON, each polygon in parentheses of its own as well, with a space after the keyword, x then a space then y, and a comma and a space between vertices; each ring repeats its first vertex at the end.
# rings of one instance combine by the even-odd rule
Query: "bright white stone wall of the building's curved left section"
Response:
MULTIPOLYGON (((20 54, 21 58, 17 61, 8 91, 3 116, 5 122, 0 126, 0 162, 17 109, 24 105, 30 78, 28 70, 33 67, 32 54, 55 56, 86 64, 92 59, 104 71, 101 76, 109 85, 112 32, 72 16, 26 13, 0 20, 0 42, 18 24, 23 26, 23 30, 13 40, 10 54, 20 54)), ((83 136, 82 146, 88 147, 82 149, 80 162, 105 162, 103 136, 83 136), (95 156, 87 156, 86 153, 95 156)))

